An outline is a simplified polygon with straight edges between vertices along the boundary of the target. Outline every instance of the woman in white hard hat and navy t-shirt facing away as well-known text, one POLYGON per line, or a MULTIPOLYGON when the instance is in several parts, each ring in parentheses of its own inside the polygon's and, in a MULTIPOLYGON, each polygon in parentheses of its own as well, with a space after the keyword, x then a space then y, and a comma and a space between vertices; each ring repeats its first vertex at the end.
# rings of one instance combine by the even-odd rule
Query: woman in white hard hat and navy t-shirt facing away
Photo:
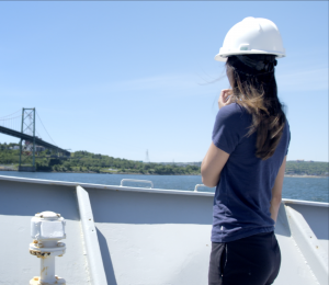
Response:
POLYGON ((202 181, 217 186, 213 207, 209 285, 265 285, 281 264, 274 225, 281 204, 290 127, 277 99, 274 67, 281 35, 266 19, 247 18, 226 35, 231 89, 218 100, 202 181))

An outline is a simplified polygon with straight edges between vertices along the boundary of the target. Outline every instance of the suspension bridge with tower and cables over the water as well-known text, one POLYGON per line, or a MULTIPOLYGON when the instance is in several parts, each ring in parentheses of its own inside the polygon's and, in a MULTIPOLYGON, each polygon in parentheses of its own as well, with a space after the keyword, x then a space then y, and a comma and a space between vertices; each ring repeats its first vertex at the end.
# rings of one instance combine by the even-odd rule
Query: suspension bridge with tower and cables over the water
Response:
POLYGON ((20 138, 19 171, 35 171, 36 147, 44 147, 46 149, 55 150, 57 156, 70 156, 68 150, 59 148, 55 144, 34 107, 23 107, 22 111, 19 110, 10 115, 0 117, 0 133, 20 138), (35 115, 37 116, 41 125, 50 138, 52 142, 43 140, 36 130, 35 115))

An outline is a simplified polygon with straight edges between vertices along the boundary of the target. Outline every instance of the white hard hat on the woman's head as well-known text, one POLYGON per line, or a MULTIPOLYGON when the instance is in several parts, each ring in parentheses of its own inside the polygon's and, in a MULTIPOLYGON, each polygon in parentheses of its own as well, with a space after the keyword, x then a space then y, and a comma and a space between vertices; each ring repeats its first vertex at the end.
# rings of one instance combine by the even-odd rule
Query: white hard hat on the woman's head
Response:
POLYGON ((215 59, 226 61, 228 56, 254 54, 285 57, 285 49, 272 21, 248 16, 228 31, 215 59))

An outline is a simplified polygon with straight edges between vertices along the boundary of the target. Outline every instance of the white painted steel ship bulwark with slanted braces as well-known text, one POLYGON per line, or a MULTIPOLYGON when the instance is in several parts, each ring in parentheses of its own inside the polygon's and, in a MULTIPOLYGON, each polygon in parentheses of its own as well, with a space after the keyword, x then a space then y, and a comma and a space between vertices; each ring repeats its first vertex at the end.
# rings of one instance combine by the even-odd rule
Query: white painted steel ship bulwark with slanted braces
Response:
MULTIPOLYGON (((30 221, 43 210, 67 220, 67 252, 56 258, 67 284, 207 284, 213 193, 0 176, 0 284, 39 275, 30 221)), ((328 284, 328 203, 283 201, 275 285, 328 284)))

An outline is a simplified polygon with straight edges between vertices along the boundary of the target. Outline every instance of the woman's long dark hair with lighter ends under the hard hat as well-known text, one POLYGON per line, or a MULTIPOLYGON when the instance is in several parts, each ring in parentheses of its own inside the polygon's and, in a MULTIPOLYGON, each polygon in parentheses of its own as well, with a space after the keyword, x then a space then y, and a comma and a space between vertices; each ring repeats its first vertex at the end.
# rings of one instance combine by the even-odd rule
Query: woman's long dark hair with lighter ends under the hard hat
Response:
POLYGON ((257 132, 256 156, 262 160, 273 156, 286 122, 277 98, 274 66, 274 55, 230 56, 226 62, 232 100, 252 115, 247 136, 257 132))

